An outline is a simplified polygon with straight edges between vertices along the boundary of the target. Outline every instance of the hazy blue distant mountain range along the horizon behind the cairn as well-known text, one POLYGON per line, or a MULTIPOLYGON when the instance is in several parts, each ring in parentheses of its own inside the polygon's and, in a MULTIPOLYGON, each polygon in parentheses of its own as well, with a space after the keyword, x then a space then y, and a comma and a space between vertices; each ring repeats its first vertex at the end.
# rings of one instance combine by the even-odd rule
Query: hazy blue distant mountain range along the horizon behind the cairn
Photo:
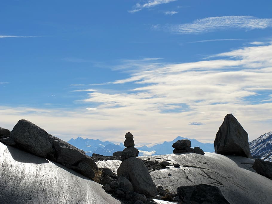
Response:
MULTIPOLYGON (((162 155, 162 154, 172 154, 173 148, 172 144, 177 140, 188 139, 186 137, 178 136, 170 142, 164 141, 162 144, 157 144, 152 147, 147 147, 146 145, 137 148, 139 150, 139 156, 147 156, 147 155, 162 155)), ((206 152, 214 152, 213 143, 202 143, 197 141, 196 139, 189 139, 191 141, 192 147, 200 147, 203 151, 206 152)), ((87 155, 92 156, 95 154, 102 154, 104 156, 112 156, 112 154, 116 151, 123 151, 125 148, 123 143, 116 145, 112 142, 106 141, 102 142, 99 139, 83 139, 78 137, 77 139, 70 139, 68 141, 71 145, 82 149, 86 152, 87 155)))

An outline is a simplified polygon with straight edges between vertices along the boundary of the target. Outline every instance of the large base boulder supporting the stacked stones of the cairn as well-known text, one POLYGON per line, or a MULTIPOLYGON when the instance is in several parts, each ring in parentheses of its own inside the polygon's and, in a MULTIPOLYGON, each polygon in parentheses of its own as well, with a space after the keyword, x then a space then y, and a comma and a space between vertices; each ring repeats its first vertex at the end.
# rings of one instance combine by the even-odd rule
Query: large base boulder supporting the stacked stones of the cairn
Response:
POLYGON ((117 169, 118 176, 123 174, 128 174, 135 192, 148 197, 154 197, 157 194, 156 186, 141 159, 130 157, 124 160, 117 169))

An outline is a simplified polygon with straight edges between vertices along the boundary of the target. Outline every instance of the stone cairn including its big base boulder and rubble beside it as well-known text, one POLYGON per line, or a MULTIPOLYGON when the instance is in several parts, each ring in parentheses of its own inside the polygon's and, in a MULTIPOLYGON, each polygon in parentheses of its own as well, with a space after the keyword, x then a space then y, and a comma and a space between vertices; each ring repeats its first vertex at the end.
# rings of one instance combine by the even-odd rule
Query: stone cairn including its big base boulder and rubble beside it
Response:
POLYGON ((126 204, 154 203, 150 198, 158 194, 156 186, 134 147, 133 135, 128 132, 125 135, 124 146, 121 154, 120 167, 117 175, 110 169, 103 168, 101 184, 105 191, 120 198, 126 204))

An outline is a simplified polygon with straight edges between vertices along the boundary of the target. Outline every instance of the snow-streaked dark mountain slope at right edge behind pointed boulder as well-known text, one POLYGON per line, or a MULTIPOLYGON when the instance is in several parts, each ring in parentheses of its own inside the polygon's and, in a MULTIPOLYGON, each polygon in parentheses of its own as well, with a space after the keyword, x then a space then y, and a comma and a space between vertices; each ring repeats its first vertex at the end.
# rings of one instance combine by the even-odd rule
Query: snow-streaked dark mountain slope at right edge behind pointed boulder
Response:
POLYGON ((272 131, 249 142, 249 147, 253 158, 272 162, 272 131))

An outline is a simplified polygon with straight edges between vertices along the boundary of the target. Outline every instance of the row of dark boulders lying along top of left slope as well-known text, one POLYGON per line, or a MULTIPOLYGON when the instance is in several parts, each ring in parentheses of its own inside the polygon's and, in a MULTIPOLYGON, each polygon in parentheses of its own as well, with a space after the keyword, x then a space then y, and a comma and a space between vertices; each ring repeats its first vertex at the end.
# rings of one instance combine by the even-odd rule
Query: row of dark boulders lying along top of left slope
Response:
POLYGON ((94 160, 84 151, 48 134, 32 122, 22 119, 12 131, 1 128, 0 141, 31 154, 60 163, 67 168, 93 179, 98 170, 94 160))

